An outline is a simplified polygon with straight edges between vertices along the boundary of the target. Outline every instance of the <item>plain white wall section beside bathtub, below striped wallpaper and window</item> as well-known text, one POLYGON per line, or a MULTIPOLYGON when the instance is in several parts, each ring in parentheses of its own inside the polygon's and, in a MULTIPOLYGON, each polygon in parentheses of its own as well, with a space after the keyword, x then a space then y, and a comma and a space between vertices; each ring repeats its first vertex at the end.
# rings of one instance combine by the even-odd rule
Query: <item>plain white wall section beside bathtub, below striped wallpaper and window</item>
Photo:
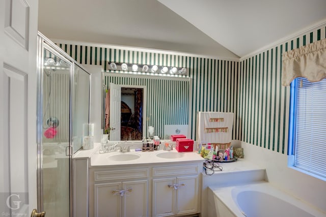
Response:
POLYGON ((326 212, 326 182, 287 167, 287 155, 241 142, 244 158, 266 168, 268 181, 276 188, 326 212))

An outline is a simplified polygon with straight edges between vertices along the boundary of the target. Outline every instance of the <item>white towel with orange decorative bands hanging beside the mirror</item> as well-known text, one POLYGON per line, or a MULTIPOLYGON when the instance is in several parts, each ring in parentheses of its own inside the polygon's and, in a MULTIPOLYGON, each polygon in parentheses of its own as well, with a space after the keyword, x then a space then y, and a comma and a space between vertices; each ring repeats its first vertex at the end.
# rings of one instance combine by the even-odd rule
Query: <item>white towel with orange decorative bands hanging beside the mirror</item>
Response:
POLYGON ((229 143, 232 140, 232 129, 232 112, 198 112, 199 142, 229 143), (223 121, 220 118, 223 118, 223 121), (207 130, 208 128, 210 129, 207 130))

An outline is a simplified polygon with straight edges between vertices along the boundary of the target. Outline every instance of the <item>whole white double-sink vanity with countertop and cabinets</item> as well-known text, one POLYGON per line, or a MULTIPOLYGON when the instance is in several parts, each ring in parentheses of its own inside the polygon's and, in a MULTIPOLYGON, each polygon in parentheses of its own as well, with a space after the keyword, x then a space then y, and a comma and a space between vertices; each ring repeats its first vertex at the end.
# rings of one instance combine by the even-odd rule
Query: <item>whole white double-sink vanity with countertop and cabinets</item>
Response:
POLYGON ((175 216, 200 212, 204 159, 176 150, 73 156, 74 216, 175 216))

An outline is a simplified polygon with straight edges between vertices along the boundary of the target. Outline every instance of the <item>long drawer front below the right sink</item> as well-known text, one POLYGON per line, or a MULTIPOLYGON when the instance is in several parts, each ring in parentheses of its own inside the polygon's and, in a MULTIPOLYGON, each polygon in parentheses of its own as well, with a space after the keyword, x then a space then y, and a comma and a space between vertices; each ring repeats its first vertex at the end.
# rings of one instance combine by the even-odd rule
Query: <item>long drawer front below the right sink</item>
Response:
POLYGON ((199 168, 196 165, 182 165, 173 167, 154 167, 152 170, 153 177, 156 176, 177 176, 187 174, 198 174, 199 168))

